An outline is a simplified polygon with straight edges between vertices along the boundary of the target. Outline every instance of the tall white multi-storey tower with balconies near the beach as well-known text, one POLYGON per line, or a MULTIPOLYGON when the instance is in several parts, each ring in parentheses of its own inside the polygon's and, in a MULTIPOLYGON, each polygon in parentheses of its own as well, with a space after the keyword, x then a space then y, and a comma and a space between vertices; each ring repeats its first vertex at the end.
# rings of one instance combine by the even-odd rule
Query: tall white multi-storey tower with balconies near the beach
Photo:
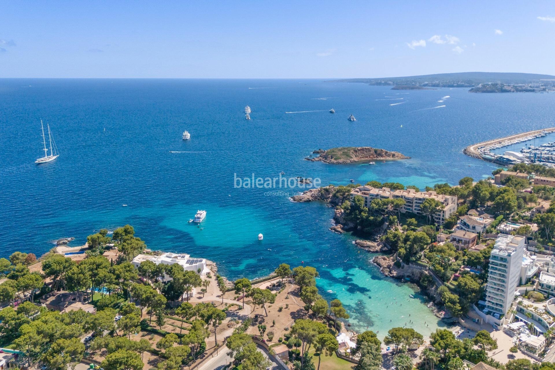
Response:
POLYGON ((499 234, 491 251, 486 285, 486 308, 496 318, 507 315, 511 307, 521 276, 523 254, 523 236, 499 234))

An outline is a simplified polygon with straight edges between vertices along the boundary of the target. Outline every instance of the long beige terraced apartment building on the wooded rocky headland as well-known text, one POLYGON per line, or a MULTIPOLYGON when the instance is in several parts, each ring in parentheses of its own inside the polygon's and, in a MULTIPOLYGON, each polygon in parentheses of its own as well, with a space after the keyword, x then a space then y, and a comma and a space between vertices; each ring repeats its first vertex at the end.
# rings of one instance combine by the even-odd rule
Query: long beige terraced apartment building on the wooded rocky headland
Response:
POLYGON ((374 199, 394 199, 401 198, 405 200, 405 206, 401 212, 411 212, 421 215, 420 205, 425 199, 436 199, 445 206, 441 211, 437 212, 433 218, 438 224, 443 224, 445 220, 457 211, 457 197, 452 195, 437 194, 435 191, 416 191, 414 189, 407 190, 391 190, 388 187, 372 187, 359 186, 351 191, 351 198, 360 195, 364 198, 365 207, 370 205, 374 199))

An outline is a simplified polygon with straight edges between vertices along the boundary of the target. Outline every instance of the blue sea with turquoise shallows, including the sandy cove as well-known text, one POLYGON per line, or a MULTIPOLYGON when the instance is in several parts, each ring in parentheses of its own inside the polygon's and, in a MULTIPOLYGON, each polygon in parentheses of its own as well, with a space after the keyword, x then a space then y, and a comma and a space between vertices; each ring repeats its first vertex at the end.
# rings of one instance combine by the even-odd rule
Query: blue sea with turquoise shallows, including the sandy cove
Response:
POLYGON ((312 79, 0 79, 0 108, 2 255, 41 255, 60 237, 82 245, 103 227, 131 224, 151 249, 205 257, 230 279, 263 276, 281 262, 314 266, 320 292, 344 302, 352 328, 383 337, 405 323, 425 335, 443 324, 415 287, 382 276, 354 237, 329 231, 330 207, 291 202, 299 189, 237 189, 235 176, 284 171, 324 185, 354 179, 419 187, 485 178, 495 165, 463 148, 553 126, 555 94, 312 79), (60 156, 36 165, 41 119, 60 156), (181 140, 184 130, 189 141, 181 140), (411 159, 375 166, 304 160, 335 146, 374 146, 411 159), (203 229, 187 222, 198 209, 208 212, 203 229))

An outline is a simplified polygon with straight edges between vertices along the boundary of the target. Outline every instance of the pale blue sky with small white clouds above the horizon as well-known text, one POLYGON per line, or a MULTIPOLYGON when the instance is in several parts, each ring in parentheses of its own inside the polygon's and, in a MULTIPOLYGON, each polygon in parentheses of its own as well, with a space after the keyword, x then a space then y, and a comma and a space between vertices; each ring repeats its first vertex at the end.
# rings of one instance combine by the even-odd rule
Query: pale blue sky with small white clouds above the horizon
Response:
POLYGON ((0 77, 555 74, 555 2, 4 1, 0 77))

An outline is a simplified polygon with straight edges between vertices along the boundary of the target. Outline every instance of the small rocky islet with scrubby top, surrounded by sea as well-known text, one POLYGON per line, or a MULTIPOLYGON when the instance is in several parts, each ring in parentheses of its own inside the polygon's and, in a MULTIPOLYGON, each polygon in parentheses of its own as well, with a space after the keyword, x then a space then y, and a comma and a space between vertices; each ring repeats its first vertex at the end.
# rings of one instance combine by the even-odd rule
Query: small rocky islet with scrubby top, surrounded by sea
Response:
POLYGON ((318 149, 313 151, 312 153, 319 155, 314 158, 307 157, 305 159, 313 162, 321 161, 330 164, 349 164, 364 161, 396 160, 410 158, 399 153, 398 151, 388 151, 385 149, 371 148, 370 146, 342 146, 340 148, 331 148, 328 150, 318 149))

